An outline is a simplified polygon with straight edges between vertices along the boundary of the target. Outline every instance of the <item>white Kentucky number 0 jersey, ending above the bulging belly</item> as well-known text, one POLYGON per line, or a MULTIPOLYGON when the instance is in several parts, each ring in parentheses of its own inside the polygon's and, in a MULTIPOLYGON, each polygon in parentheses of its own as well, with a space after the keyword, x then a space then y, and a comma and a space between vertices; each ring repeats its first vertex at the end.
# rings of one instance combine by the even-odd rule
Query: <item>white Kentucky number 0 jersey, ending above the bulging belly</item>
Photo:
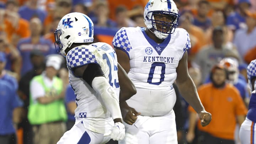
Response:
POLYGON ((129 78, 138 88, 170 90, 176 80, 176 68, 184 52, 191 47, 186 30, 176 28, 164 42, 157 44, 144 28, 121 28, 113 39, 113 46, 130 58, 129 78))

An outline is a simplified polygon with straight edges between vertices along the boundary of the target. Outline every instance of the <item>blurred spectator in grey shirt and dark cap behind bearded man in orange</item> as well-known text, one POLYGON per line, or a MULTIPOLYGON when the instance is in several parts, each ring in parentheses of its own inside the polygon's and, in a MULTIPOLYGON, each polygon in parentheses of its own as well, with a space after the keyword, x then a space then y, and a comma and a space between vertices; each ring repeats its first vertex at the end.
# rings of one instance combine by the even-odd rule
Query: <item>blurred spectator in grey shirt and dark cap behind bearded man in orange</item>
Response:
POLYGON ((213 44, 203 47, 194 58, 193 67, 199 68, 202 71, 202 81, 207 79, 210 69, 224 57, 234 57, 239 59, 238 53, 224 45, 223 28, 217 26, 213 29, 212 34, 213 44))

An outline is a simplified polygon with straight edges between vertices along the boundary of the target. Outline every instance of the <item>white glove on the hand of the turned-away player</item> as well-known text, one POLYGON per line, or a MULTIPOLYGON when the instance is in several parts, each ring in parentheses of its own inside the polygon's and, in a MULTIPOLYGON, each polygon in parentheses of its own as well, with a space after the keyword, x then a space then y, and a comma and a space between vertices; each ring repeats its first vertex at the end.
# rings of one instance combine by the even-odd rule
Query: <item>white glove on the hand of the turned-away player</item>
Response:
POLYGON ((113 140, 123 140, 125 136, 124 125, 121 122, 115 123, 113 129, 104 134, 104 136, 108 135, 113 140))

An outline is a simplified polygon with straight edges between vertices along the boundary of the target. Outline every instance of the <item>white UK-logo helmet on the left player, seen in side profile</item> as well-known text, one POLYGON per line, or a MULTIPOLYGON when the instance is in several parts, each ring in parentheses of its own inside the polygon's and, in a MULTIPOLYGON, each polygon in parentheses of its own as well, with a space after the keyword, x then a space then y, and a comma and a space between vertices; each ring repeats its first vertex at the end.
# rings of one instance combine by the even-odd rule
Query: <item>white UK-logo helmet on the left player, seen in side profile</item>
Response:
POLYGON ((92 43, 94 41, 94 24, 85 14, 72 12, 62 17, 54 35, 55 48, 65 57, 65 50, 73 43, 92 43))

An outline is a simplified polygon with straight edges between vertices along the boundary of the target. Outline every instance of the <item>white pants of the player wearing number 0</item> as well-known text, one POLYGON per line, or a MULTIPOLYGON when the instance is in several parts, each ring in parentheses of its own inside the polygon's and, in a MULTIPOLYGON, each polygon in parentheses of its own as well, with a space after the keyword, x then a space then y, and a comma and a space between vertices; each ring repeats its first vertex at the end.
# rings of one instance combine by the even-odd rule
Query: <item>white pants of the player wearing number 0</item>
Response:
POLYGON ((133 125, 124 126, 126 136, 118 144, 178 144, 173 110, 164 116, 138 116, 133 125))

